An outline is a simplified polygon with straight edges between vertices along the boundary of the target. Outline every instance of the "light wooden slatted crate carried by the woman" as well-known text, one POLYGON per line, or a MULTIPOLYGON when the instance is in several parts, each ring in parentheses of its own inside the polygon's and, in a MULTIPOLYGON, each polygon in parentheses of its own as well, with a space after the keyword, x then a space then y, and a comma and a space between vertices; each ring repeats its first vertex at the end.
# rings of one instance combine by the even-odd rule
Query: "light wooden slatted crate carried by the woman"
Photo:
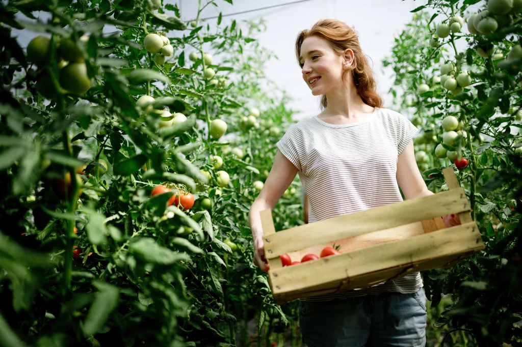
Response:
POLYGON ((414 271, 453 266, 483 250, 470 204, 453 168, 443 170, 448 191, 374 207, 276 232, 271 210, 261 212, 269 284, 276 303, 340 293, 400 278, 414 271), (441 216, 458 214, 461 225, 446 228, 441 216), (340 244, 339 255, 282 267, 340 244))

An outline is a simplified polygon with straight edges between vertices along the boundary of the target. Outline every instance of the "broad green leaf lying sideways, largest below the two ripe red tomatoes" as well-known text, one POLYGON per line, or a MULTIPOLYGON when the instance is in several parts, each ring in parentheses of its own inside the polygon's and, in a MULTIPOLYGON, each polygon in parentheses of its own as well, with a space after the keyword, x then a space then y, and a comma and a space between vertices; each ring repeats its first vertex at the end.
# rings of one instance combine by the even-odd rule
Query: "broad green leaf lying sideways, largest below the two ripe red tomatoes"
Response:
POLYGON ((184 253, 172 252, 168 248, 160 246, 154 239, 141 238, 129 245, 129 252, 143 259, 147 263, 172 265, 179 261, 188 260, 184 253))

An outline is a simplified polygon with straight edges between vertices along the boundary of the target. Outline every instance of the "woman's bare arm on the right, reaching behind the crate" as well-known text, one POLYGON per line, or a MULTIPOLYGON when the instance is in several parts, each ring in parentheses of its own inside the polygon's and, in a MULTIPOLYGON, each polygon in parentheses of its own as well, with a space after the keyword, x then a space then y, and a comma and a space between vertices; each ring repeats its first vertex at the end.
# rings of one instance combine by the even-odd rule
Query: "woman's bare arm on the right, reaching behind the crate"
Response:
MULTIPOLYGON (((406 148, 404 148, 404 151, 399 154, 397 162, 397 182, 406 200, 433 195, 433 192, 426 187, 426 183, 415 162, 413 141, 410 141, 406 148)), ((453 227, 460 224, 457 215, 447 215, 442 219, 446 227, 453 227)))

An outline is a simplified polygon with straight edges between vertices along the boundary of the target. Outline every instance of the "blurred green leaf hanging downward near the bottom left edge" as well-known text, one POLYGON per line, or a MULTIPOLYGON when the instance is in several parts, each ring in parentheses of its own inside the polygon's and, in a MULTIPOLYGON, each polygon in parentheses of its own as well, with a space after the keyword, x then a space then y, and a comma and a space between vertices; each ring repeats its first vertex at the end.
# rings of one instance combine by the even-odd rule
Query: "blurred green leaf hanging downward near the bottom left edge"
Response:
POLYGON ((98 288, 99 292, 94 294, 94 301, 82 326, 86 336, 91 336, 100 331, 111 312, 116 308, 120 298, 118 288, 111 286, 111 284, 101 281, 94 281, 92 284, 98 288))

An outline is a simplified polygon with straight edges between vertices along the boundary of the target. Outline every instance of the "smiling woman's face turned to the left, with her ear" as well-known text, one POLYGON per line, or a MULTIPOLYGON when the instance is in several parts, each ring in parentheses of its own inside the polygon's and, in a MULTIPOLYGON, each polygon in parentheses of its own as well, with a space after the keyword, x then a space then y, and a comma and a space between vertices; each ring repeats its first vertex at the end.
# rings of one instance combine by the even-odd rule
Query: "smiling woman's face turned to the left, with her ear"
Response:
POLYGON ((313 95, 327 94, 341 85, 343 72, 347 70, 345 64, 345 57, 336 54, 323 38, 310 36, 301 44, 303 80, 313 95))

